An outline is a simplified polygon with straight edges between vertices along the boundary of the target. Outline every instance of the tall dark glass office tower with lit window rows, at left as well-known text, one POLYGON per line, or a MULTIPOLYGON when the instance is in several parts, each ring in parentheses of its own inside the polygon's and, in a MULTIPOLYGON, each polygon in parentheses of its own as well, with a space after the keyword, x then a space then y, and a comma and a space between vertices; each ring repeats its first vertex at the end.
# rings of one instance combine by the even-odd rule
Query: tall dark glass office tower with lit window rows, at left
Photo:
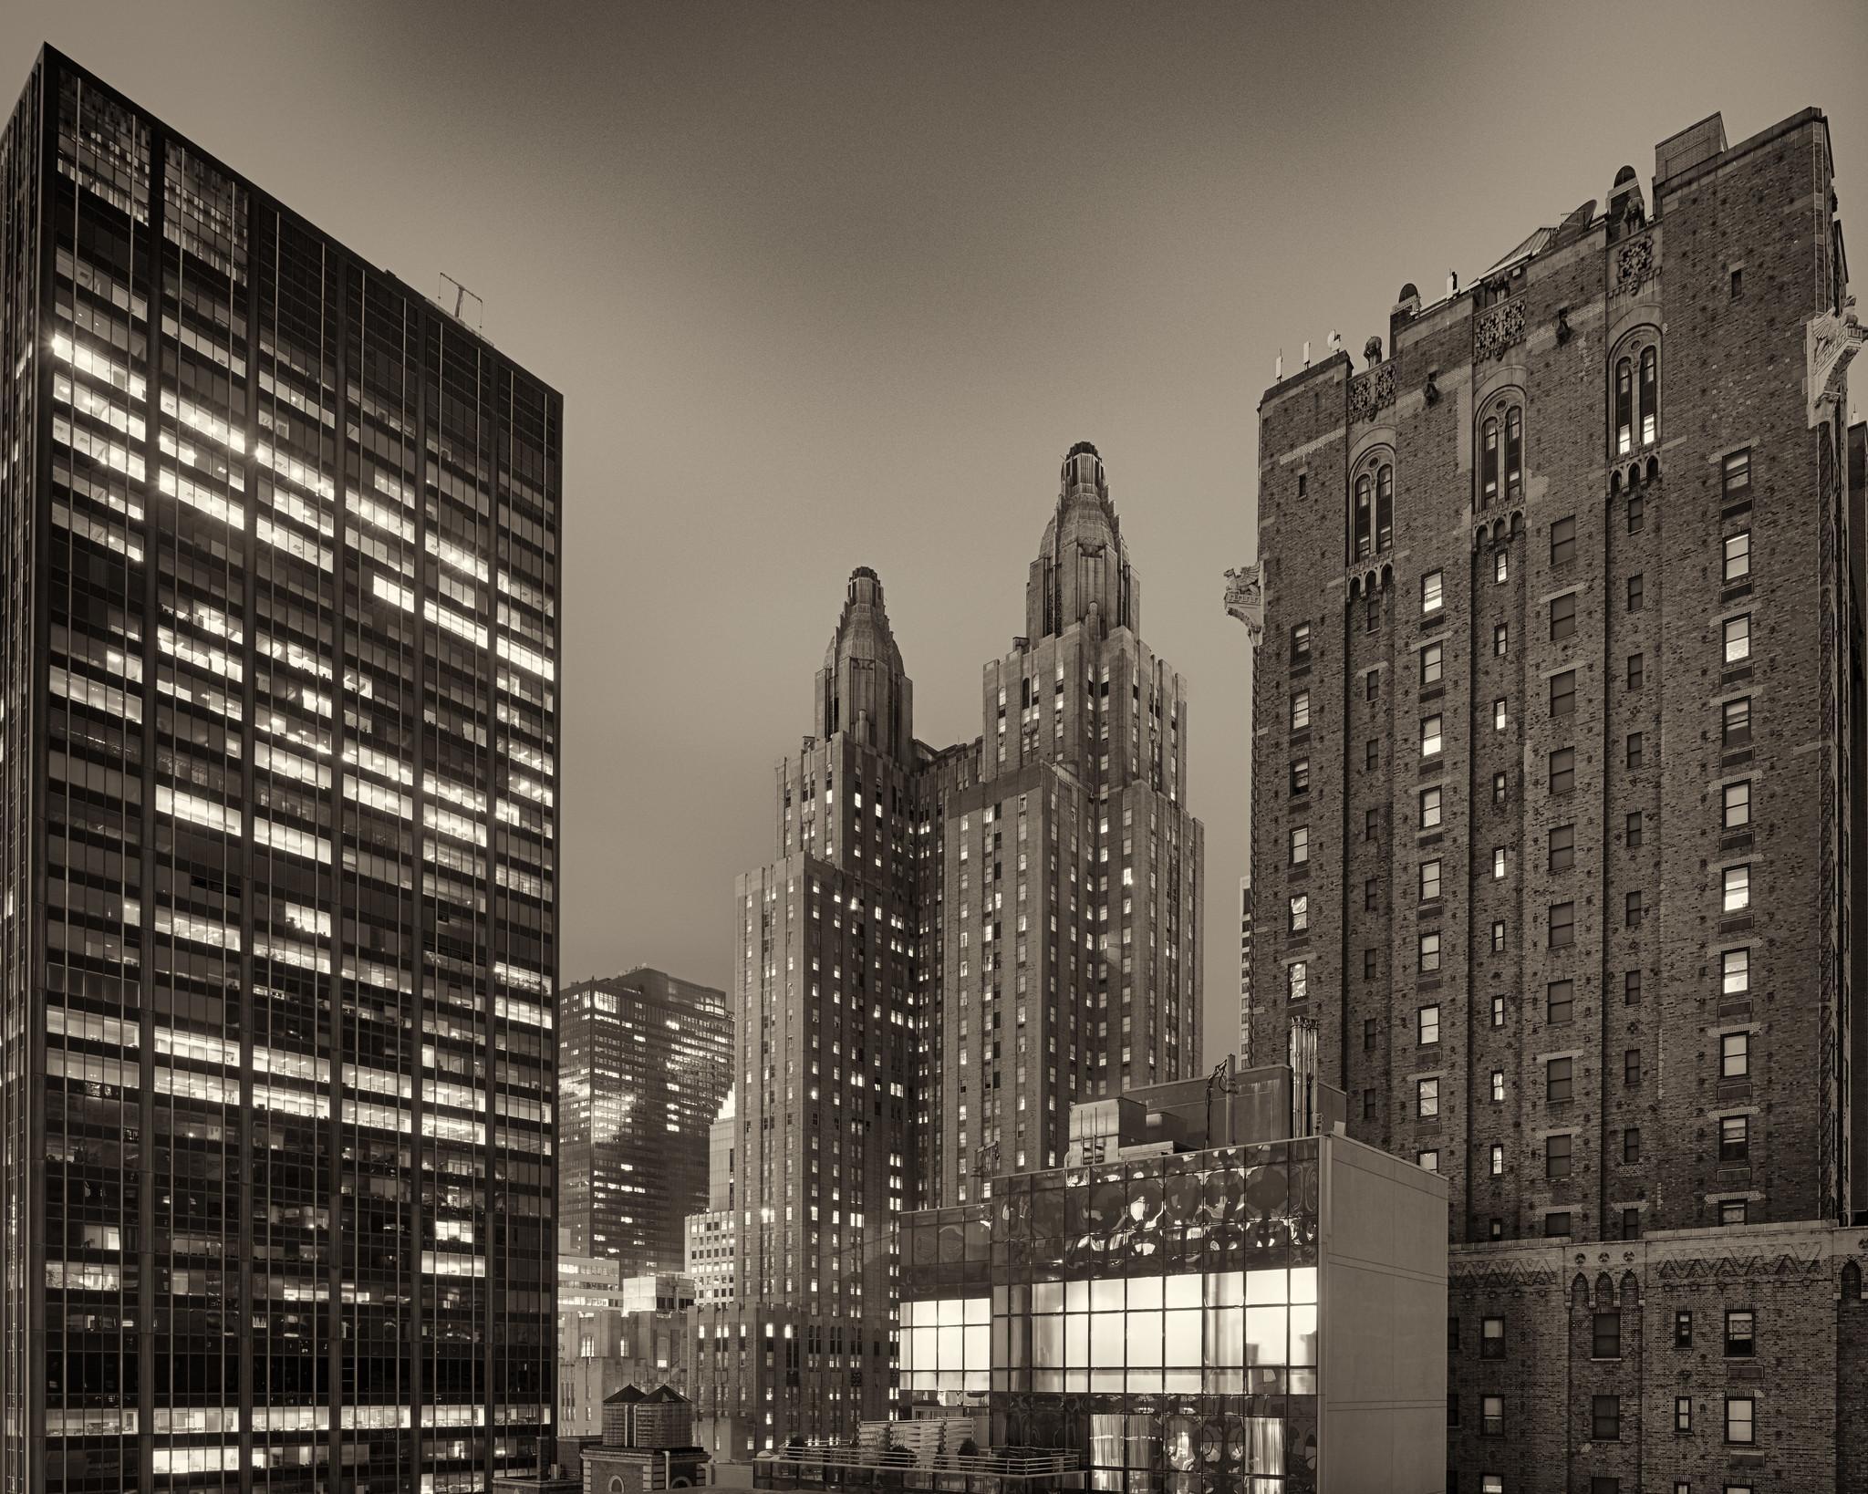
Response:
POLYGON ((0 1490, 482 1490, 551 1432, 560 398, 52 50, 0 183, 0 1490))

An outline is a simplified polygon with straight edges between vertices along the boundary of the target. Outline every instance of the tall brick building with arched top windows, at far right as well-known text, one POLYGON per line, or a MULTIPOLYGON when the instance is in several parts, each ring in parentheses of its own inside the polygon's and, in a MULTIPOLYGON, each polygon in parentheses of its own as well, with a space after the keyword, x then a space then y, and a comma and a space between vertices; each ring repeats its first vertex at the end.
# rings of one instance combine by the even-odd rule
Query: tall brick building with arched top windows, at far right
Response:
POLYGON ((1868 1479, 1831 176, 1713 116, 1259 407, 1255 1042, 1451 1186, 1450 1488, 1868 1479))

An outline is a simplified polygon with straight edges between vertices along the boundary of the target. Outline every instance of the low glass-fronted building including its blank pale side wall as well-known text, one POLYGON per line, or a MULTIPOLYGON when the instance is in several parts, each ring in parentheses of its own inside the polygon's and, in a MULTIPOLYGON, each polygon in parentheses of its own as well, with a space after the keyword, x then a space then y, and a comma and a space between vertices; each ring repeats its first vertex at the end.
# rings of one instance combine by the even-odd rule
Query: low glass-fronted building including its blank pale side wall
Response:
POLYGON ((1446 1184, 1347 1135, 994 1180, 902 1223, 897 1410, 1121 1494, 1440 1490, 1446 1184))

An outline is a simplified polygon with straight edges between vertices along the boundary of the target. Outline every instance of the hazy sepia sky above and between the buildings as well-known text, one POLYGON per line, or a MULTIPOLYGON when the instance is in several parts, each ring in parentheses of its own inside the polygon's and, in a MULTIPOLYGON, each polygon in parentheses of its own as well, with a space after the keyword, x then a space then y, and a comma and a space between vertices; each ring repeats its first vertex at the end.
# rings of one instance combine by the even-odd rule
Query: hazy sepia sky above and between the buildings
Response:
MULTIPOLYGON (((1834 4, 0 7, 564 392, 566 980, 729 986, 732 880, 850 570, 915 732, 977 736, 1070 443, 1188 682, 1207 1051, 1237 1046, 1255 405, 1653 146, 1829 112, 1868 265, 1868 17, 1834 4)), ((1861 271, 1857 284, 1868 271, 1861 271)), ((1857 388, 1868 388, 1857 379, 1857 388)), ((1330 517, 1334 523, 1334 515, 1330 517)))

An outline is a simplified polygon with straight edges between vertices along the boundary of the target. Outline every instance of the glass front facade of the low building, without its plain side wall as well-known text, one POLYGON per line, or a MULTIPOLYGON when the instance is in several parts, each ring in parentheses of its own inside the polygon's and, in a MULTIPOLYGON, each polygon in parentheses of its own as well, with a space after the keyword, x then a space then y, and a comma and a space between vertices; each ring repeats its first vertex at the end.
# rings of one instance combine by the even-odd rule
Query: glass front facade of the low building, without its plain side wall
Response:
POLYGON ((1319 1141, 999 1178, 902 1225, 902 1416, 1130 1494, 1315 1488, 1319 1141))

